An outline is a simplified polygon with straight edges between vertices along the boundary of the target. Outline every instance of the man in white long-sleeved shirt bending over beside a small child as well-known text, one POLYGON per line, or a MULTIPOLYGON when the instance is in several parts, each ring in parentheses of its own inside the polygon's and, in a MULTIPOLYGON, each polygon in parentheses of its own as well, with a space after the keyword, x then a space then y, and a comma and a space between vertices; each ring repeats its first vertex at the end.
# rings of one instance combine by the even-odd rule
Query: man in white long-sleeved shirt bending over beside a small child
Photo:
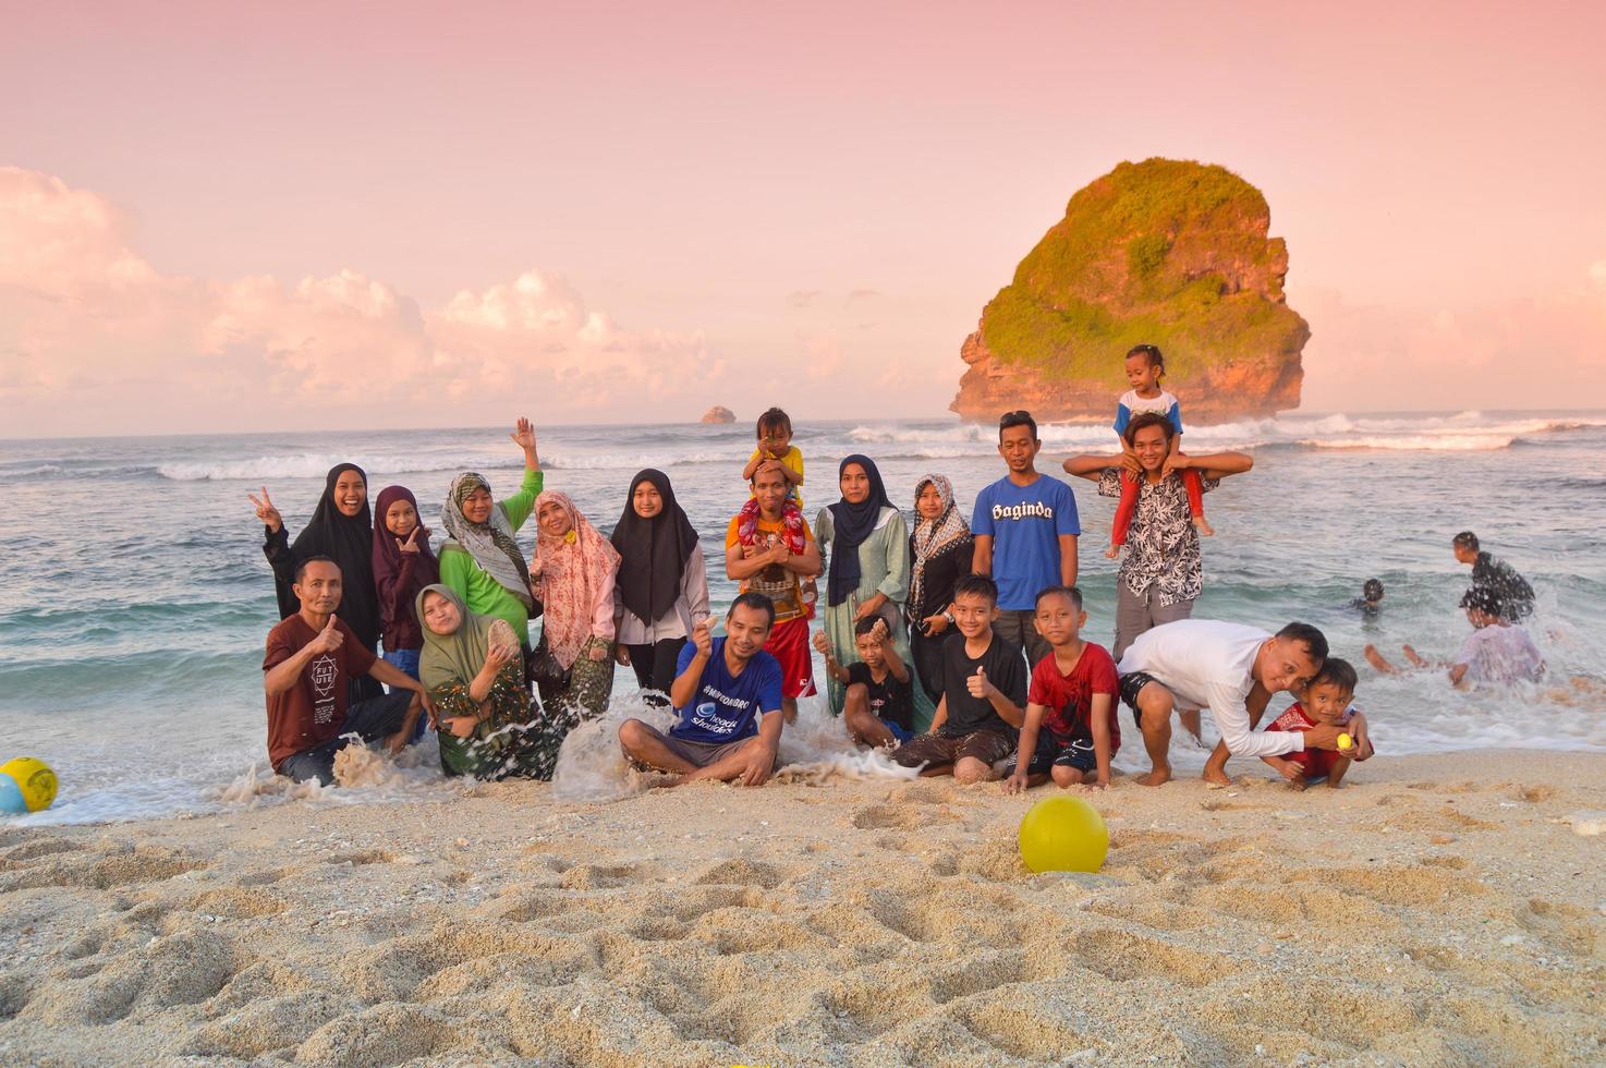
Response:
POLYGON ((1227 779, 1227 756, 1282 756, 1306 748, 1338 748, 1339 728, 1256 734, 1266 703, 1278 691, 1296 691, 1322 670, 1327 638, 1307 623, 1275 634, 1257 626, 1217 620, 1177 620, 1137 636, 1121 657, 1121 700, 1143 732, 1153 764, 1139 779, 1160 785, 1171 779, 1171 713, 1209 708, 1221 745, 1204 764, 1204 781, 1227 779))

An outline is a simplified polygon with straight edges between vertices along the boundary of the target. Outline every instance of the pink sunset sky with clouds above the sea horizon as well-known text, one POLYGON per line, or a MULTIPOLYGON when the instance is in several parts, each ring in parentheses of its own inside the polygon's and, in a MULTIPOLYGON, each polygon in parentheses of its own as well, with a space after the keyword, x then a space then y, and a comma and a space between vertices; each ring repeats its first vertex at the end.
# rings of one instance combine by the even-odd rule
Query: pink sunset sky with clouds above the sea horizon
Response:
POLYGON ((1124 159, 1312 411, 1606 406, 1606 5, 11 5, 0 437, 940 416, 1124 159), (1320 10, 1319 10, 1320 8, 1320 10))

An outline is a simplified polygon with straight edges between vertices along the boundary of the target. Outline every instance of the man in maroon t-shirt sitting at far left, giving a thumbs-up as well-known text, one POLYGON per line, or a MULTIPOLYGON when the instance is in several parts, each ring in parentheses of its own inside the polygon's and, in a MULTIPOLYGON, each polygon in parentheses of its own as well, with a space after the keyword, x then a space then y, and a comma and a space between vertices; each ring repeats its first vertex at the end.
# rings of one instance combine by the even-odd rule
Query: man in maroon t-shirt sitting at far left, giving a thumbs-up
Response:
POLYGON ((296 572, 300 612, 268 631, 262 658, 268 695, 268 760, 297 782, 334 782, 334 755, 357 734, 365 742, 384 739, 400 753, 419 708, 429 697, 418 679, 363 649, 334 610, 340 607, 340 567, 326 556, 302 560, 296 572), (368 675, 390 687, 382 697, 349 705, 347 683, 368 675))

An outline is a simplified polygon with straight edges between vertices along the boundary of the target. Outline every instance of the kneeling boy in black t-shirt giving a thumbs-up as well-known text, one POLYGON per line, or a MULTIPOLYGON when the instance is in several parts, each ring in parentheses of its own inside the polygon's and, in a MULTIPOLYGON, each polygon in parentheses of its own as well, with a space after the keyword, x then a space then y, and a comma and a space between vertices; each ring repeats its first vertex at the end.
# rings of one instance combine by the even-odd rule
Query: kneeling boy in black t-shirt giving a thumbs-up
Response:
POLYGON ((957 782, 997 777, 993 764, 1015 750, 1026 716, 1026 662, 1017 646, 993 633, 997 586, 986 575, 967 575, 954 586, 957 634, 943 642, 943 699, 931 732, 898 747, 904 768, 925 764, 922 776, 952 774, 957 782))

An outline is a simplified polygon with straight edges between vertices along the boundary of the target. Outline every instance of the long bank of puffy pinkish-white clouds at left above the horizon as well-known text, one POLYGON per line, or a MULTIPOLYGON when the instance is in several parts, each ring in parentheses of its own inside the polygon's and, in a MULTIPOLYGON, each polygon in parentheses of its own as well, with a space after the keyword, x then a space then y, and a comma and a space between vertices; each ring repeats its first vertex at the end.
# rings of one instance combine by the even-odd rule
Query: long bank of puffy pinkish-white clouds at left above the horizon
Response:
POLYGON ((723 369, 700 334, 622 329, 535 270, 437 310, 355 270, 162 275, 104 198, 16 167, 0 167, 0 357, 6 434, 605 416, 642 390, 689 418, 723 369))

